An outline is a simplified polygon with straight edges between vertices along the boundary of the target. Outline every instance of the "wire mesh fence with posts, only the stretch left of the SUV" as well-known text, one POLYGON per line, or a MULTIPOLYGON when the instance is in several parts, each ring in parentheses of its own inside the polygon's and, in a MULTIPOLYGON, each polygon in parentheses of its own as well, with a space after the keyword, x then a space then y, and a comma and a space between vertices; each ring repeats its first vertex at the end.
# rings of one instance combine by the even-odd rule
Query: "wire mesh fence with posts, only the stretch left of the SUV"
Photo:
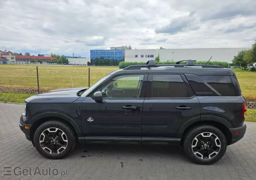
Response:
POLYGON ((53 89, 70 87, 90 87, 110 72, 45 70, 34 69, 0 69, 0 97, 24 97, 25 94, 38 94, 53 89), (23 95, 23 96, 22 96, 23 95))

